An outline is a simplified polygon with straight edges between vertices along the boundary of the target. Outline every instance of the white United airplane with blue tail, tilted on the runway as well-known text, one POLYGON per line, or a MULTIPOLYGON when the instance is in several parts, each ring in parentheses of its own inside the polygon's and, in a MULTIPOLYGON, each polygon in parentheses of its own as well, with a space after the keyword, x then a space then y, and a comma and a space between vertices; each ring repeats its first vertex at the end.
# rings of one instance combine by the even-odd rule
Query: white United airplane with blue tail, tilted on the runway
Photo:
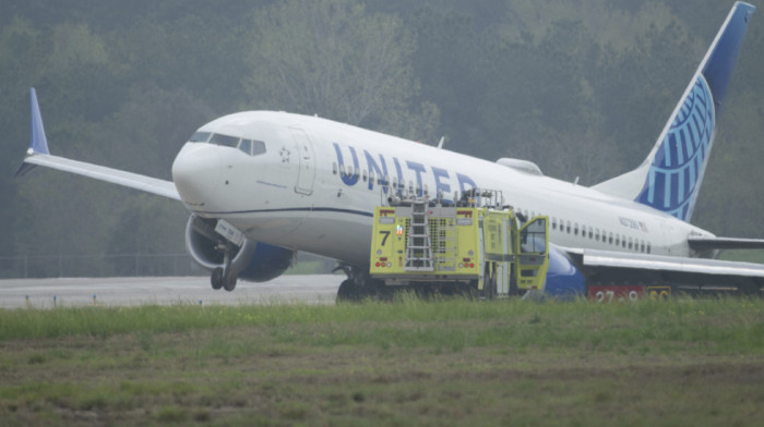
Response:
POLYGON ((612 281, 735 283, 757 293, 764 266, 714 258, 764 240, 717 237, 689 222, 754 10, 735 3, 644 162, 590 187, 545 176, 526 160, 491 162, 282 111, 204 124, 175 158, 172 181, 158 180, 51 155, 34 88, 32 142, 16 175, 43 166, 181 202, 188 252, 215 290, 271 280, 303 251, 338 260, 347 273, 338 298, 370 293, 374 206, 411 195, 447 203, 492 188, 525 217, 549 217, 550 295, 612 281))

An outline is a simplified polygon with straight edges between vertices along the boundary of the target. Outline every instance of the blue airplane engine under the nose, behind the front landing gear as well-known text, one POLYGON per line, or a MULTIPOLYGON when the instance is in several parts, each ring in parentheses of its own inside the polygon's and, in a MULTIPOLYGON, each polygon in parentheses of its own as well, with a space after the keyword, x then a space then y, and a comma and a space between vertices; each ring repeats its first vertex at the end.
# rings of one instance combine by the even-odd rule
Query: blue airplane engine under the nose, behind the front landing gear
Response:
POLYGON ((225 267, 228 252, 230 270, 236 277, 252 282, 280 276, 291 266, 295 255, 294 251, 249 239, 240 247, 236 246, 215 232, 214 222, 194 216, 186 224, 186 247, 200 266, 213 272, 225 267))

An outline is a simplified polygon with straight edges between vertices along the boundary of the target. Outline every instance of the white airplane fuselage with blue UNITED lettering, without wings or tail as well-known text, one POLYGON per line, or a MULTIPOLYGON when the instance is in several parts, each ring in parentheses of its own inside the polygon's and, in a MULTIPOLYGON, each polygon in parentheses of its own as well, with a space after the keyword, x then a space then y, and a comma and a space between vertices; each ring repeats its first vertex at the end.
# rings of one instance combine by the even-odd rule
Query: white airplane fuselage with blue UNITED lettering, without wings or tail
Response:
POLYGON ((355 265, 369 261, 373 207, 404 194, 500 190, 505 204, 549 217, 562 247, 695 256, 689 235, 713 234, 642 204, 446 149, 285 112, 230 114, 199 132, 264 143, 259 155, 187 143, 174 167, 184 205, 253 241, 355 265))

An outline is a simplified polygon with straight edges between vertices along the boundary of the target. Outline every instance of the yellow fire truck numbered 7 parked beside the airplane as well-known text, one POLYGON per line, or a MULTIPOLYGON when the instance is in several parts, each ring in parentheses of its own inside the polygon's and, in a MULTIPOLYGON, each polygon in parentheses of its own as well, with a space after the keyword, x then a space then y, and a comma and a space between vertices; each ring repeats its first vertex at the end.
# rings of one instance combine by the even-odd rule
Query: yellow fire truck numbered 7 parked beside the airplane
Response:
POLYGON ((485 297, 542 291, 547 217, 526 220, 501 192, 471 190, 456 203, 411 197, 374 209, 369 273, 385 285, 475 290, 485 297))

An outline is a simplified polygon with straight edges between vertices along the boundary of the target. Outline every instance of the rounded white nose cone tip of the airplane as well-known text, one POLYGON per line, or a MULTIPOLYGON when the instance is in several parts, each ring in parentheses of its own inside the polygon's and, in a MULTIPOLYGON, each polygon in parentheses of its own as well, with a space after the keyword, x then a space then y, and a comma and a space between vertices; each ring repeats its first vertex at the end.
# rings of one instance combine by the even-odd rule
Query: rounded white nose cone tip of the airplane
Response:
POLYGON ((172 181, 180 198, 191 206, 204 206, 220 182, 220 156, 216 146, 188 143, 172 162, 172 181))

